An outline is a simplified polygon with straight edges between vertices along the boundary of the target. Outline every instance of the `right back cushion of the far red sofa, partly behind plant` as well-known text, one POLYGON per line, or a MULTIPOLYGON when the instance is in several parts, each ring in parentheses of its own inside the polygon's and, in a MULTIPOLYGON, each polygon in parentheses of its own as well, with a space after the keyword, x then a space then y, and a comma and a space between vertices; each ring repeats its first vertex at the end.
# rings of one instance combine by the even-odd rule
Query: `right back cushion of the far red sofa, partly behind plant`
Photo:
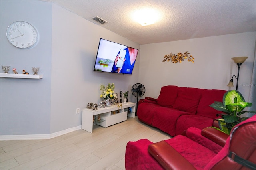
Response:
POLYGON ((222 102, 222 98, 225 90, 207 90, 203 89, 201 94, 201 99, 196 111, 197 115, 202 115, 205 117, 216 118, 216 114, 223 113, 222 111, 217 111, 209 105, 214 103, 214 101, 222 102))

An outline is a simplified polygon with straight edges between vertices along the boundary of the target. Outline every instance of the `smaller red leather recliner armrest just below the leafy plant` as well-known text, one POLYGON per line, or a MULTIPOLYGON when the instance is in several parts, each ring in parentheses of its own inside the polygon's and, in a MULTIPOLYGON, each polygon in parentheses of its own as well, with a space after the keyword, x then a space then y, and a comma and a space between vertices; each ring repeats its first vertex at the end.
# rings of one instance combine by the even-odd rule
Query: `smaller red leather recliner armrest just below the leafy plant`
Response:
POLYGON ((228 134, 221 132, 212 127, 204 128, 201 131, 202 136, 212 140, 213 142, 219 144, 220 146, 224 147, 226 144, 226 140, 228 138, 228 134))

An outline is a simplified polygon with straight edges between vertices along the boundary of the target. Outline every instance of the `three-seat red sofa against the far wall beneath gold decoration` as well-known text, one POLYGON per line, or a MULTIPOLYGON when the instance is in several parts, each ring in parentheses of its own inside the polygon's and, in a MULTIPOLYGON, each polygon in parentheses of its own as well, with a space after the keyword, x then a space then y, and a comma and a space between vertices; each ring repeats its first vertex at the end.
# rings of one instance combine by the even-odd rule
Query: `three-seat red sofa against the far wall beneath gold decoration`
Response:
POLYGON ((173 85, 161 88, 157 99, 141 99, 137 108, 140 121, 176 136, 189 127, 210 127, 216 111, 209 105, 222 101, 225 90, 208 90, 173 85))

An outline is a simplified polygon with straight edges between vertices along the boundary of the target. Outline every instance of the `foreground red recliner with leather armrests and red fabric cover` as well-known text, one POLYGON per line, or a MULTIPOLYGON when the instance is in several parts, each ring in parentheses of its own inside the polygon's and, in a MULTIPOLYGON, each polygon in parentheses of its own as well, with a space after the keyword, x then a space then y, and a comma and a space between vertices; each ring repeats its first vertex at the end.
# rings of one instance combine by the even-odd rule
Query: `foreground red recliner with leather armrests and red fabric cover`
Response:
POLYGON ((128 142, 126 170, 256 169, 256 115, 236 125, 230 136, 214 128, 193 127, 184 135, 157 143, 128 142))

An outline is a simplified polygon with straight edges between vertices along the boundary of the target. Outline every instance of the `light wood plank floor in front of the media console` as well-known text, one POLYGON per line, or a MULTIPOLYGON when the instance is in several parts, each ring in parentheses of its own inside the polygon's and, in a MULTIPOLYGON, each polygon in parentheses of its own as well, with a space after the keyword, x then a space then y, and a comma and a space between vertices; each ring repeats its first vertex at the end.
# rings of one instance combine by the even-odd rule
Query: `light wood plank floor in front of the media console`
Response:
POLYGON ((93 133, 76 130, 49 140, 1 141, 1 170, 124 170, 128 141, 147 138, 152 142, 171 138, 156 128, 128 117, 127 121, 93 133))

